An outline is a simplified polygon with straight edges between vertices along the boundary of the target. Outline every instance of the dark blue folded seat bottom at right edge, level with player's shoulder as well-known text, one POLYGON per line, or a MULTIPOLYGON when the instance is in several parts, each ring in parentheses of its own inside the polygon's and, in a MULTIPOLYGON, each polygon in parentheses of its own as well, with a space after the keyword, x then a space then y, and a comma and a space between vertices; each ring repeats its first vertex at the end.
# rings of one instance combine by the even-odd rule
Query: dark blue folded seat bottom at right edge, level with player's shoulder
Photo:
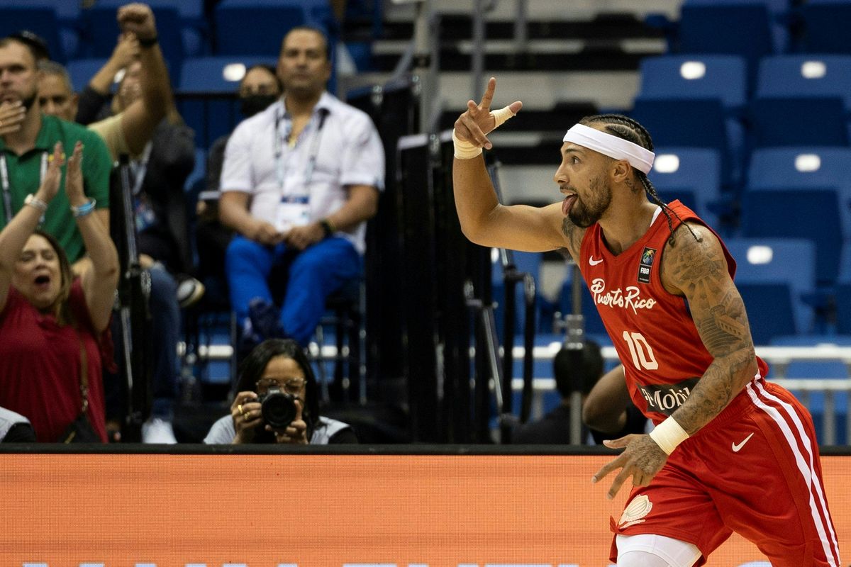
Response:
POLYGON ((842 247, 837 190, 795 184, 748 188, 742 195, 741 224, 745 236, 813 241, 817 286, 836 283, 842 247))

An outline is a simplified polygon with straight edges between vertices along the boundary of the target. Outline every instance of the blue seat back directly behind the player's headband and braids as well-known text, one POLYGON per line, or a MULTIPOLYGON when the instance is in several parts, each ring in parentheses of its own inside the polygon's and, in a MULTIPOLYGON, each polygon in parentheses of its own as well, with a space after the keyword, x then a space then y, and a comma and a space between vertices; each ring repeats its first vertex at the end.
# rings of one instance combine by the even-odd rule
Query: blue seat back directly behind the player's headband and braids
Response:
POLYGON ((655 146, 649 179, 662 201, 679 199, 713 228, 721 201, 721 158, 717 150, 655 146))

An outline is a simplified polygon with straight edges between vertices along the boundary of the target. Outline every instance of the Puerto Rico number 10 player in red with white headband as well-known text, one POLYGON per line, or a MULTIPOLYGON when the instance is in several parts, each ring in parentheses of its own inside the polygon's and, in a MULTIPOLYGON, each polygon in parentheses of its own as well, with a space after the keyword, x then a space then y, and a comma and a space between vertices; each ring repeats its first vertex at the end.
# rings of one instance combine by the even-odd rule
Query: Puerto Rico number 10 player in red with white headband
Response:
POLYGON ((614 532, 619 567, 690 567, 740 533, 774 567, 840 567, 808 411, 765 381, 735 263, 718 235, 647 173, 653 143, 636 121, 589 116, 568 130, 555 174, 563 201, 505 207, 480 157, 520 110, 490 111, 496 80, 455 122, 454 195, 465 235, 488 247, 567 248, 580 266, 653 433, 594 476, 633 488, 614 532))

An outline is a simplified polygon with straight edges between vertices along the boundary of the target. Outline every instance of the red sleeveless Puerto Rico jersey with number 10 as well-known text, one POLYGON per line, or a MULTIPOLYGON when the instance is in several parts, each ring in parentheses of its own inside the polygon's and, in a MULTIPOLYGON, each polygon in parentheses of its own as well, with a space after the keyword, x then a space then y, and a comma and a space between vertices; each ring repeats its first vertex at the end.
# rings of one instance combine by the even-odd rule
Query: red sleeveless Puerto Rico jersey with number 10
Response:
MULTIPOLYGON (((674 229, 687 220, 705 225, 680 201, 671 202, 670 207, 674 229)), ((665 214, 660 212, 647 232, 617 256, 603 243, 600 224, 585 231, 580 247, 582 277, 624 365, 632 400, 657 423, 683 404, 712 362, 685 298, 662 286, 662 254, 670 236, 665 214)), ((733 277, 735 261, 720 237, 718 241, 733 277)), ((764 377, 768 366, 757 361, 764 377)))

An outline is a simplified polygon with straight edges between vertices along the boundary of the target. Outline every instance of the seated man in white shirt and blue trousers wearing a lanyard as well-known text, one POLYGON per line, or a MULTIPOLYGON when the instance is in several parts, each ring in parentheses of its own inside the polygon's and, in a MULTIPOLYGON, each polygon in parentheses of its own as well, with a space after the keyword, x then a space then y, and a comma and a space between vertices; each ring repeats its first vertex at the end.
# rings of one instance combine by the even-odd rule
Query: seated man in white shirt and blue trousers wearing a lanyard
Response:
POLYGON ((285 335, 306 346, 325 299, 362 270, 384 150, 369 116, 325 90, 330 75, 323 33, 289 31, 277 62, 283 98, 228 140, 220 218, 237 232, 226 274, 249 344, 285 335), (273 267, 287 273, 280 312, 268 282, 273 267))

